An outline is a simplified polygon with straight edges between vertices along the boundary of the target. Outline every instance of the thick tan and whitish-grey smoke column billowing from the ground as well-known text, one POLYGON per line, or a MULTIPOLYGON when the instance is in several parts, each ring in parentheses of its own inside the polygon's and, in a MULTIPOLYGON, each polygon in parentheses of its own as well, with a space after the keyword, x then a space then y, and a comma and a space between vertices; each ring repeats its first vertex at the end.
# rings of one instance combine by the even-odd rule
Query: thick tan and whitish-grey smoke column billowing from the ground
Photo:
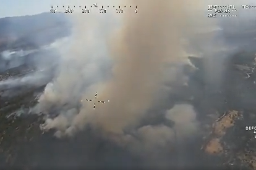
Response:
MULTIPOLYGON (((113 31, 110 40, 106 34, 98 34, 103 31, 100 28, 106 28, 98 22, 101 17, 74 15, 72 41, 62 56, 59 75, 46 86, 36 106, 48 115, 42 129, 56 129, 56 136, 62 137, 73 136, 90 126, 120 145, 129 145, 131 152, 147 151, 153 155, 171 149, 176 139, 195 134, 196 113, 191 105, 185 104, 166 111, 166 121, 174 121, 174 126, 137 127, 142 119, 147 119, 148 110, 164 102, 164 83, 181 79, 176 68, 187 61, 182 39, 193 39, 198 28, 211 26, 205 20, 202 2, 197 0, 188 5, 183 0, 126 1, 138 7, 138 14, 122 14, 121 28, 113 31), (108 50, 101 48, 104 44, 108 50), (103 59, 108 62, 101 55, 109 57, 113 64, 108 79, 103 79, 102 71, 98 70, 103 59), (168 64, 174 69, 166 74, 168 64), (93 102, 86 99, 93 99, 95 91, 98 98, 93 110, 93 102), (98 100, 110 102, 101 104, 98 100), (66 103, 71 106, 66 107, 66 103), (74 106, 75 103, 79 106, 74 106), (54 110, 59 116, 49 118, 54 107, 59 107, 54 110), (126 129, 132 129, 134 135, 125 134, 126 129)), ((212 36, 205 39, 210 41, 212 36)), ((153 155, 151 160, 155 159, 153 155)))

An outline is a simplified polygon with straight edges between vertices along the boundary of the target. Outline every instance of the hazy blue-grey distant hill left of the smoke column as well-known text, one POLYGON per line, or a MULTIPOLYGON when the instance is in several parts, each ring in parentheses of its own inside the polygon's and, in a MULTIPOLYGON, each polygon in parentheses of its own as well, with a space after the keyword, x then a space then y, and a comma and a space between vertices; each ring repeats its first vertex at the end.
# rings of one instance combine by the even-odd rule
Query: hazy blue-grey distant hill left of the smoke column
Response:
POLYGON ((0 18, 0 25, 0 52, 34 49, 70 33, 70 22, 61 13, 0 18))

